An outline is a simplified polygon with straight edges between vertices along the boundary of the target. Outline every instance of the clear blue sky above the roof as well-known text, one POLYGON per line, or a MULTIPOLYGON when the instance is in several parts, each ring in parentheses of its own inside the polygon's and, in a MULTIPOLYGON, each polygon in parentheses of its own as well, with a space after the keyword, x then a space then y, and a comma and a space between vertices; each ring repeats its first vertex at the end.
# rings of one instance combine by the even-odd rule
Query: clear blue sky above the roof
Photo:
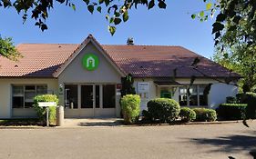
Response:
POLYGON ((46 21, 48 30, 41 32, 35 21, 28 19, 23 25, 21 15, 13 9, 0 9, 0 34, 11 36, 15 45, 20 43, 81 43, 88 34, 97 38, 100 44, 125 45, 133 37, 136 45, 181 45, 200 55, 210 57, 214 53, 211 25, 191 19, 192 13, 205 9, 202 0, 167 1, 166 10, 139 7, 132 9, 129 20, 118 25, 114 36, 108 33, 105 14, 87 12, 82 0, 75 1, 77 10, 56 4, 46 21))

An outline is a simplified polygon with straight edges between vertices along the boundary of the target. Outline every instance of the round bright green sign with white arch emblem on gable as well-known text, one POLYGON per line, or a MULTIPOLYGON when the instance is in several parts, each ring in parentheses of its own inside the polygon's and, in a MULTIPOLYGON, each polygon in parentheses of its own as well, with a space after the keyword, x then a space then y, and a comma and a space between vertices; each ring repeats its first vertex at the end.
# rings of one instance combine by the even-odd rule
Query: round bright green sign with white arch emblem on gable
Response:
POLYGON ((84 57, 82 59, 82 65, 88 71, 96 70, 97 69, 97 65, 98 65, 97 55, 93 55, 93 54, 84 55, 84 57))

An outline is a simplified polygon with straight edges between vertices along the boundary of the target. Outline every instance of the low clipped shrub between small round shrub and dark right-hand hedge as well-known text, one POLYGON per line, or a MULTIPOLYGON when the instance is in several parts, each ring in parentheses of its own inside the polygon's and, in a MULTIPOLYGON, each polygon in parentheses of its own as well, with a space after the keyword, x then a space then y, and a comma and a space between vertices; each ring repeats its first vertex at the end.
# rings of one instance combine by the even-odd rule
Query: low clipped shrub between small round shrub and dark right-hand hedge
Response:
POLYGON ((216 111, 207 108, 193 108, 196 113, 196 121, 198 122, 213 122, 217 119, 216 111))

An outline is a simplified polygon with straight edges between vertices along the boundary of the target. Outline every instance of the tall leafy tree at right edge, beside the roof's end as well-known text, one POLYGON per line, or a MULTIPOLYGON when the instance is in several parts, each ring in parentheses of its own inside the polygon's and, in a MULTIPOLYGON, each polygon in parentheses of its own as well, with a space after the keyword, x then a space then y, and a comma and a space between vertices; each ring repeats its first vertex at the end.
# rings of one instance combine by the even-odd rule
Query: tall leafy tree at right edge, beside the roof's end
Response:
POLYGON ((243 76, 245 91, 256 85, 256 1, 222 0, 213 30, 217 53, 214 60, 243 76))

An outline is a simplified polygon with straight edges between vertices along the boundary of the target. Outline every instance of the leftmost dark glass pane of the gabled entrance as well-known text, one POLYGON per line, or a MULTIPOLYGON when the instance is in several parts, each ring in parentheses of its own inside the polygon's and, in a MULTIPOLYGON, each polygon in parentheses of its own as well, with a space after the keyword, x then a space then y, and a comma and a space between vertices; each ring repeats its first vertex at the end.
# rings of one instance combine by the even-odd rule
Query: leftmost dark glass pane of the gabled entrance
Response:
POLYGON ((68 108, 78 108, 77 104, 77 85, 76 84, 66 84, 65 85, 65 107, 68 108))

